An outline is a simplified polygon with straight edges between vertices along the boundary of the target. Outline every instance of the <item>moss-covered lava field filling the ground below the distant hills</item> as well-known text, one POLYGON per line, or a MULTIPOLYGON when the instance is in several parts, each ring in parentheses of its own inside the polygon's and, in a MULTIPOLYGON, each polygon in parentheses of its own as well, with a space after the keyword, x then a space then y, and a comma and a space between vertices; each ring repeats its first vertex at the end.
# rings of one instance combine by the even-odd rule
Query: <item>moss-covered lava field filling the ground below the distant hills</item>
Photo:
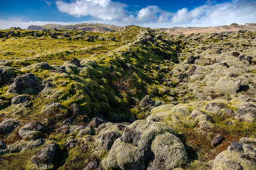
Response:
POLYGON ((0 32, 0 169, 255 169, 256 32, 0 32))

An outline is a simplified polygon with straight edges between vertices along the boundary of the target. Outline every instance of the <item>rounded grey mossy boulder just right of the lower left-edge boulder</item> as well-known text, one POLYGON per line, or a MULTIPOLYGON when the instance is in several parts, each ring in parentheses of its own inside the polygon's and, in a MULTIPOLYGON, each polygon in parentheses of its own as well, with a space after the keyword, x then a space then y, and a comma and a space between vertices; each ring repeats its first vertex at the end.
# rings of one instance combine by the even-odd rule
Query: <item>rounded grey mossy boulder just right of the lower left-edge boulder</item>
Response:
POLYGON ((44 130, 44 125, 33 120, 19 130, 19 135, 22 139, 37 139, 40 138, 44 130))

